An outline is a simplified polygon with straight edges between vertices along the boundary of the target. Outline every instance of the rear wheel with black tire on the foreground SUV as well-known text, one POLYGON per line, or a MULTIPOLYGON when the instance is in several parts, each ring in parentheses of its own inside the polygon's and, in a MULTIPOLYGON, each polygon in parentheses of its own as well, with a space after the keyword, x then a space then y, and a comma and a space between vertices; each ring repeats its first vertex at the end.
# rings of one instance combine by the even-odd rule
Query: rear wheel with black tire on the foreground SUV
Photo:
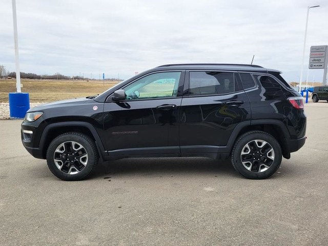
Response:
POLYGON ((236 171, 244 177, 250 179, 264 179, 270 177, 278 170, 281 164, 281 159, 282 153, 279 142, 272 135, 261 131, 250 131, 241 135, 237 139, 231 155, 231 162, 236 171), (264 144, 264 141, 267 142, 267 144, 269 145, 264 144), (262 149, 257 149, 259 148, 258 143, 261 143, 262 149), (250 154, 242 154, 245 153, 242 152, 243 150, 248 150, 247 145, 254 145, 254 148, 249 148, 250 154), (273 152, 270 148, 273 150, 273 152), (259 150, 259 152, 263 150, 263 155, 265 156, 260 155, 261 153, 257 152, 256 149, 259 150), (265 152, 265 150, 267 149, 270 151, 265 152), (273 158, 273 160, 269 157, 269 155, 271 155, 270 157, 273 158), (245 157, 247 157, 246 159, 248 160, 251 158, 251 160, 249 162, 244 161, 243 164, 241 158, 245 157), (254 159, 252 157, 258 157, 258 160, 260 161, 257 161, 256 158, 254 159), (248 168, 250 168, 251 170, 248 170, 248 168))

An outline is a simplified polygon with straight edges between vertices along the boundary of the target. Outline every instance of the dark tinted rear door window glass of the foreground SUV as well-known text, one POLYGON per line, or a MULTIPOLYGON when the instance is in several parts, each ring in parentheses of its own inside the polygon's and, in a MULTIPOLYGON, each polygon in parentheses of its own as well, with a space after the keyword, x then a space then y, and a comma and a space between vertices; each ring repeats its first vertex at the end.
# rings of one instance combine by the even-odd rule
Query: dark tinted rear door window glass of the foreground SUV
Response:
POLYGON ((189 94, 218 95, 236 91, 234 73, 230 72, 190 72, 189 94))

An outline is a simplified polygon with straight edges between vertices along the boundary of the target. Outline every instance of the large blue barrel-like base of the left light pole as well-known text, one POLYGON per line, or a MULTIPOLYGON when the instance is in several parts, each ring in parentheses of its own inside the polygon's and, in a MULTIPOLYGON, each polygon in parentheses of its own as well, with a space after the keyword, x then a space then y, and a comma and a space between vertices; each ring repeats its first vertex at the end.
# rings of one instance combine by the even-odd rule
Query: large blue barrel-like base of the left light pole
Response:
POLYGON ((9 93, 10 118, 22 119, 30 109, 29 93, 9 93))

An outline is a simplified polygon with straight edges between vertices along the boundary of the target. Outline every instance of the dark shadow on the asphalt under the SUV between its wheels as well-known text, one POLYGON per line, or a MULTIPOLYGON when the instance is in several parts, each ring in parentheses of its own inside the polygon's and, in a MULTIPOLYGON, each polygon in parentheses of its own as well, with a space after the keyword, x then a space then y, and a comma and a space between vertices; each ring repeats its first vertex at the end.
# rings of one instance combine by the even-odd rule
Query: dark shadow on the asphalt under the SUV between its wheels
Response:
POLYGON ((213 160, 206 157, 185 158, 128 158, 99 162, 90 179, 106 176, 167 176, 186 174, 190 176, 223 175, 239 176, 230 160, 213 160))

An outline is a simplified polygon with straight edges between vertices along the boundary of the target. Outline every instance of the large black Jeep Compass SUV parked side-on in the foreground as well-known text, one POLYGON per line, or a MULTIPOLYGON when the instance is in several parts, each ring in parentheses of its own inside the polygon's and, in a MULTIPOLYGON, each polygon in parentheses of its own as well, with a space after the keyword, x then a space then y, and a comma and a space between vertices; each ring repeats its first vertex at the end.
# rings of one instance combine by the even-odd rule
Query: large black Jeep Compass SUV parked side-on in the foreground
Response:
POLYGON ((22 141, 51 172, 80 180, 128 157, 231 158, 267 178, 305 142, 303 98, 280 72, 256 65, 164 65, 104 93, 30 109, 22 141))

